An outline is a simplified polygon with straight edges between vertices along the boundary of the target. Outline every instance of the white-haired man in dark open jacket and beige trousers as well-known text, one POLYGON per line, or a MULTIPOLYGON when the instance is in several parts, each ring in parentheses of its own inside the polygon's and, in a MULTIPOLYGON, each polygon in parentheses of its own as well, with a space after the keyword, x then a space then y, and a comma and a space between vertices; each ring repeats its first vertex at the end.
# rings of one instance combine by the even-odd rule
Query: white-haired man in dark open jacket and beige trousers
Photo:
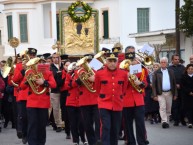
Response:
POLYGON ((167 69, 168 59, 160 59, 161 68, 153 75, 152 91, 154 100, 159 102, 162 127, 169 128, 172 99, 177 99, 177 87, 174 73, 167 69))

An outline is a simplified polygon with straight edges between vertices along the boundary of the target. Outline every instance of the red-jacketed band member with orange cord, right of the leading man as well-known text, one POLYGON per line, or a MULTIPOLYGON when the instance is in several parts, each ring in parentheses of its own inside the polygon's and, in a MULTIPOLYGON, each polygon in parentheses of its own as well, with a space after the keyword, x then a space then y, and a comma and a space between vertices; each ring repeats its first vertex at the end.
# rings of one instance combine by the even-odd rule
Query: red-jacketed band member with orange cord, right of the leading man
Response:
MULTIPOLYGON (((128 50, 126 48, 125 57, 126 59, 131 60, 131 64, 138 64, 138 61, 135 59, 135 49, 134 47, 130 48, 132 50, 128 50)), ((146 81, 146 71, 142 69, 141 73, 135 74, 137 79, 134 80, 133 84, 129 83, 126 96, 124 97, 123 103, 123 114, 125 119, 125 127, 126 127, 126 137, 128 145, 136 145, 136 140, 133 131, 133 121, 135 120, 136 124, 136 138, 139 145, 146 144, 146 129, 145 129, 145 107, 144 107, 144 95, 143 92, 139 92, 135 89, 134 86, 139 87, 141 90, 147 86, 146 81)))

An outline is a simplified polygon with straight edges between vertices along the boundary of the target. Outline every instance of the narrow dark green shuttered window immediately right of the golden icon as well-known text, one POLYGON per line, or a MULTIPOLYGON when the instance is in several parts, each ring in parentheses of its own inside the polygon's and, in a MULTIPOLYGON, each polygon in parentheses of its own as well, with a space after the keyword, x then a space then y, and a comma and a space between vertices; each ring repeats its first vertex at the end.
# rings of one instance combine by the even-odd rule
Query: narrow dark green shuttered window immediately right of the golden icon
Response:
POLYGON ((109 38, 109 12, 108 10, 103 11, 103 38, 109 38))

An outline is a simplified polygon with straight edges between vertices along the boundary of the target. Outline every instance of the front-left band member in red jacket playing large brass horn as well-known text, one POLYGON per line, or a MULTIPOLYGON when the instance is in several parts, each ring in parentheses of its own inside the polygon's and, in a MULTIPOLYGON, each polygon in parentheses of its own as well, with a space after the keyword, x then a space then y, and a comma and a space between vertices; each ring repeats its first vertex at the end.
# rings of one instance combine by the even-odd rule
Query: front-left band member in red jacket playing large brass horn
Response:
POLYGON ((40 58, 33 58, 28 61, 26 66, 30 66, 30 69, 25 72, 25 77, 21 82, 21 89, 29 89, 27 97, 27 139, 29 145, 45 145, 46 143, 46 125, 48 108, 50 107, 49 88, 56 87, 53 74, 49 70, 43 71, 42 77, 32 79, 32 77, 38 75, 37 64, 40 60, 40 58), (37 92, 33 89, 32 84, 37 85, 35 86, 37 92))

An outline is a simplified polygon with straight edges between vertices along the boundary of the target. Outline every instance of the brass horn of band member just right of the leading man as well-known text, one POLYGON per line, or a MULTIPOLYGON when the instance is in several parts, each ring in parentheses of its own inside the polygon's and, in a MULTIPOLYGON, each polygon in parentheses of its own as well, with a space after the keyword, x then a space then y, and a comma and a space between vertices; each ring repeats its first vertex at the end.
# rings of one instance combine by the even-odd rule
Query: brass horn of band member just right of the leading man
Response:
MULTIPOLYGON (((125 59, 125 60, 123 60, 123 61, 120 63, 119 68, 129 71, 129 66, 130 66, 130 64, 131 64, 131 61, 130 61, 129 59, 125 59)), ((132 87, 133 87, 137 92, 142 93, 141 87, 135 84, 135 81, 136 81, 137 79, 138 79, 137 76, 134 75, 134 74, 132 74, 132 75, 130 74, 130 75, 129 75, 129 78, 128 78, 128 80, 129 80, 129 82, 131 83, 132 87)))

